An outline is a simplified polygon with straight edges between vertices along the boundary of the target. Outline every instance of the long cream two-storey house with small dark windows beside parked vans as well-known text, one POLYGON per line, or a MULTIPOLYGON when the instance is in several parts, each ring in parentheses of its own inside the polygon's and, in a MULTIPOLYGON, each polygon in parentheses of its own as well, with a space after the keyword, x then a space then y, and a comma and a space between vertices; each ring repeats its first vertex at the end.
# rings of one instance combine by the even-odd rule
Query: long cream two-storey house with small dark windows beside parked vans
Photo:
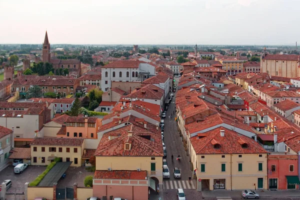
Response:
POLYGON ((71 161, 71 166, 81 166, 84 150, 82 138, 36 137, 30 143, 31 165, 48 165, 55 157, 71 161))

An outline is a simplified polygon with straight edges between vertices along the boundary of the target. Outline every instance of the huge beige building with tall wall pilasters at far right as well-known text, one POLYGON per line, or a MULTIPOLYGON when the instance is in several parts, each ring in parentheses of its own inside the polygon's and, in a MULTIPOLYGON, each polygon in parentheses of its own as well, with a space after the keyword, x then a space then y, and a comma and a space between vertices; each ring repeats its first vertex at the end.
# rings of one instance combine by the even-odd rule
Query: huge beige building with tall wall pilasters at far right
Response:
POLYGON ((260 58, 260 71, 275 76, 300 76, 299 55, 266 54, 260 58))

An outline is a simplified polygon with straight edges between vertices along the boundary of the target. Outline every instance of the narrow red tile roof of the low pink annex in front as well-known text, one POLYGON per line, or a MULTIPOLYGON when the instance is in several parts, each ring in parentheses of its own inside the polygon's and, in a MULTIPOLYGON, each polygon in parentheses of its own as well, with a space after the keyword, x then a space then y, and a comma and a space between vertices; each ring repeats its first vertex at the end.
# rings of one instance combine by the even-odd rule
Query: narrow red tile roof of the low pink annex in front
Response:
POLYGON ((147 171, 129 171, 129 170, 96 170, 95 179, 123 179, 123 180, 145 180, 147 171))

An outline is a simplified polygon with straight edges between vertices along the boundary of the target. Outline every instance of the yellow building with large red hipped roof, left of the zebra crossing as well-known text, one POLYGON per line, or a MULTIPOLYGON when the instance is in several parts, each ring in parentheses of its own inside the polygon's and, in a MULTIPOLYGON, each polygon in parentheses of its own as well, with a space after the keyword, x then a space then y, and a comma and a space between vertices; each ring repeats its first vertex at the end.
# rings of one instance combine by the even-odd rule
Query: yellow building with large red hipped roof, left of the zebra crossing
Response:
MULTIPOLYGON (((158 184, 162 188, 163 148, 158 125, 129 115, 104 124, 101 130, 105 133, 94 153, 95 174, 98 177, 113 173, 110 171, 124 171, 124 173, 143 171, 146 174, 143 180, 147 180, 147 187, 156 190, 158 184)), ((122 179, 122 177, 115 178, 122 179)), ((95 181, 99 180, 94 178, 95 181)), ((126 181, 130 182, 130 179, 126 181)), ((127 186, 131 184, 128 183, 127 186)))

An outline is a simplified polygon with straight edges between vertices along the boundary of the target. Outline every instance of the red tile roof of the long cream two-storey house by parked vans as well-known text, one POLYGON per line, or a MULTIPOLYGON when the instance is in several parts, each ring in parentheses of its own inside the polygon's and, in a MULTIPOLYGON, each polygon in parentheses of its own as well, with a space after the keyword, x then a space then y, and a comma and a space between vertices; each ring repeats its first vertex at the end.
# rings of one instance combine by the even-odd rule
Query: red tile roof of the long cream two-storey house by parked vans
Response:
POLYGON ((83 138, 35 137, 30 145, 81 146, 83 138))

